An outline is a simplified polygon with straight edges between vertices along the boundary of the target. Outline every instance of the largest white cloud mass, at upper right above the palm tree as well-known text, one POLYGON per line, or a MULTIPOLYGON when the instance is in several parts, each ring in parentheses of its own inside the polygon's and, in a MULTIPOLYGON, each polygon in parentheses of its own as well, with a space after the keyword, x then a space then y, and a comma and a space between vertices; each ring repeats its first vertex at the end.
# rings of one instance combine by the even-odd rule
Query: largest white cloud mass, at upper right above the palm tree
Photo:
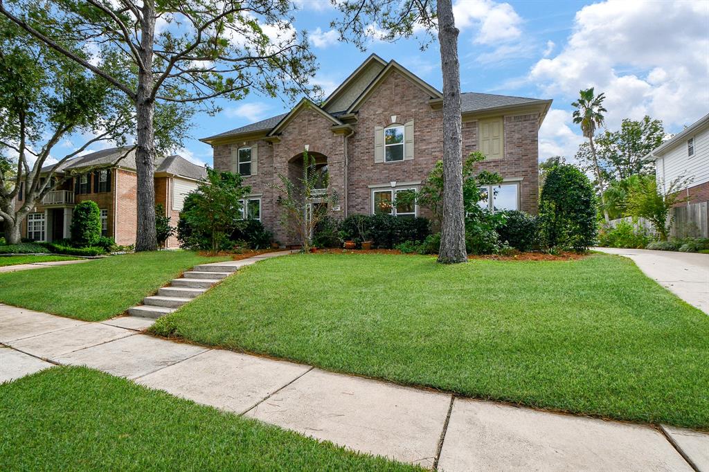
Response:
MULTIPOLYGON (((557 106, 590 86, 604 92, 608 128, 648 114, 676 129, 706 113, 708 23, 709 2, 609 0, 585 6, 566 46, 552 57, 547 43, 549 57, 532 66, 527 81, 543 96, 554 96, 557 106)), ((562 152, 572 157, 580 132, 569 113, 552 112, 540 130, 540 158, 562 152)))

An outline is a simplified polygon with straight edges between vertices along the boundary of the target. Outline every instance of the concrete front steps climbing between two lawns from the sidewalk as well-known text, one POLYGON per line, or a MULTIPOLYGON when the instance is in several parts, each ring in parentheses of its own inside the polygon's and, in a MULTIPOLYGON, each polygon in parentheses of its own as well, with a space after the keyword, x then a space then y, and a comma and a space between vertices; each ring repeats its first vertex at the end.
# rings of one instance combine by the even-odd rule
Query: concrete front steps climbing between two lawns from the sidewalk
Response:
POLYGON ((172 313, 185 303, 206 292, 215 283, 230 276, 238 265, 202 264, 183 274, 182 279, 172 279, 169 287, 162 287, 157 295, 143 298, 143 305, 128 308, 128 314, 140 318, 160 318, 172 313))

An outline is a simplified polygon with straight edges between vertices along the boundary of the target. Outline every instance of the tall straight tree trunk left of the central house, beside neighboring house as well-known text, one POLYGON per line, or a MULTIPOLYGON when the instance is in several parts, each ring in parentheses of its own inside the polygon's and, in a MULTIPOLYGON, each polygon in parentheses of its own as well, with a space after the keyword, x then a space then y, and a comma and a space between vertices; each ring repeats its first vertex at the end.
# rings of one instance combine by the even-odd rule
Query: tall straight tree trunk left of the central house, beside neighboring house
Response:
POLYGON ((135 148, 135 167, 138 173, 138 233, 135 235, 136 251, 155 251, 155 133, 152 99, 152 45, 155 36, 155 2, 143 4, 143 19, 140 38, 140 56, 145 70, 138 73, 138 97, 135 101, 138 122, 135 148))

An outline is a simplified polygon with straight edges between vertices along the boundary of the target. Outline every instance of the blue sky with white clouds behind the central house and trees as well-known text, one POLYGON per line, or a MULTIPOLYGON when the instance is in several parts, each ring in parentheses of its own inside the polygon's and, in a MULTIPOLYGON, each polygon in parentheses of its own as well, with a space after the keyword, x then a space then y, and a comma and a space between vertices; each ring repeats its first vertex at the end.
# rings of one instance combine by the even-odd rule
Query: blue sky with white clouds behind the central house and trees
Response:
MULTIPOLYGON (((295 0, 296 30, 307 30, 320 69, 313 81, 332 91, 372 52, 394 59, 440 89, 437 43, 381 43, 366 52, 337 42, 328 0, 295 0)), ((463 91, 554 99, 540 130, 540 159, 573 157, 582 142, 571 123, 579 89, 604 91, 608 128, 649 114, 676 133, 709 112, 709 1, 454 0, 463 91)), ((218 116, 197 116, 179 154, 211 165, 199 142, 225 130, 288 111, 279 99, 251 94, 219 101, 218 116)))

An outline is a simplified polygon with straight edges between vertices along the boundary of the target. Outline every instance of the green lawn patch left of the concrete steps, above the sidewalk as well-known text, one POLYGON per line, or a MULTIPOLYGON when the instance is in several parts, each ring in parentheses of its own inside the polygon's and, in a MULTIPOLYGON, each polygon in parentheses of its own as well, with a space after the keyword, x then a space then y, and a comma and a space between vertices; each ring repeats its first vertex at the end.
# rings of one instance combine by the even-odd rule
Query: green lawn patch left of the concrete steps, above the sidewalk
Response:
POLYGON ((0 302, 80 320, 106 320, 138 305, 182 271, 225 259, 189 251, 139 252, 0 274, 0 302))

